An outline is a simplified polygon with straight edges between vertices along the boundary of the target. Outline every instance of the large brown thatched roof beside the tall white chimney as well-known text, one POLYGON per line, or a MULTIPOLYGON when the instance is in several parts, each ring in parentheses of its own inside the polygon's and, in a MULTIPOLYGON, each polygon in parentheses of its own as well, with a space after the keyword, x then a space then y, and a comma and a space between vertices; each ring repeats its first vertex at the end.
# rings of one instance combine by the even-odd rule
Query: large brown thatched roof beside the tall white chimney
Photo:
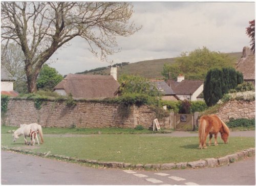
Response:
POLYGON ((64 89, 76 99, 99 99, 114 97, 119 83, 112 76, 69 74, 56 89, 64 89))

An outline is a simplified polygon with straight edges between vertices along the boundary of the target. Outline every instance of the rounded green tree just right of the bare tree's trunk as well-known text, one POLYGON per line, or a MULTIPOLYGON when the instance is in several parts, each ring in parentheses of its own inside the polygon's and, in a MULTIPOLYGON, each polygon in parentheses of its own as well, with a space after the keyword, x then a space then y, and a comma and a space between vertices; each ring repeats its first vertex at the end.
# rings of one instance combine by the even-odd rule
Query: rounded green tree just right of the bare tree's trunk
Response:
POLYGON ((63 77, 56 71, 55 68, 44 64, 37 78, 36 87, 43 90, 52 90, 53 87, 62 80, 63 77))

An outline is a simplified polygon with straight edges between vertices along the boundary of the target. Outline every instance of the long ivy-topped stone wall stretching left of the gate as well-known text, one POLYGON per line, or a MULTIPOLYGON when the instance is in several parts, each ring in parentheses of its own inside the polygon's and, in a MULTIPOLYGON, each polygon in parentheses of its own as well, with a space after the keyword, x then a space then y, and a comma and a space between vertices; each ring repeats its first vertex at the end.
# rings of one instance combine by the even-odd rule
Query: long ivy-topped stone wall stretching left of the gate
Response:
MULTIPOLYGON (((33 100, 10 99, 7 112, 2 115, 2 124, 38 123, 44 127, 135 128, 142 125, 152 128, 156 114, 148 106, 122 107, 118 104, 79 102, 73 107, 65 102, 46 101, 36 109, 33 100)), ((161 129, 169 128, 169 117, 159 120, 161 129)))

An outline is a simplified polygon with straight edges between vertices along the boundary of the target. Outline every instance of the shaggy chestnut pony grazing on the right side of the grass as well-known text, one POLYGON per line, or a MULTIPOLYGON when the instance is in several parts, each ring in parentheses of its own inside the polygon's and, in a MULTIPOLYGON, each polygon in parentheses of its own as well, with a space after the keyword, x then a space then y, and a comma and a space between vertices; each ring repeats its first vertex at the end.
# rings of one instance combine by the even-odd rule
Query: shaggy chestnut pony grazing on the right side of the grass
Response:
POLYGON ((215 143, 214 145, 218 145, 217 143, 217 135, 221 133, 221 138, 224 143, 228 143, 229 129, 226 124, 215 114, 212 115, 203 115, 199 120, 199 149, 207 148, 206 147, 206 138, 207 135, 210 134, 209 146, 211 145, 211 138, 214 134, 215 143))

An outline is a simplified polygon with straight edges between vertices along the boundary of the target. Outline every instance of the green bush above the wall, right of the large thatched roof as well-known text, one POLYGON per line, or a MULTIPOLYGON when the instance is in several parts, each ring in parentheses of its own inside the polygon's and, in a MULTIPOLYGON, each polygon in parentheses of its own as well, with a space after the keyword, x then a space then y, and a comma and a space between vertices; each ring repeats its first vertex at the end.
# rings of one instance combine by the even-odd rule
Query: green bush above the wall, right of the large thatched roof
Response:
POLYGON ((161 92, 157 87, 140 76, 122 75, 118 79, 119 83, 123 86, 120 87, 120 94, 145 94, 152 97, 160 97, 161 92))

